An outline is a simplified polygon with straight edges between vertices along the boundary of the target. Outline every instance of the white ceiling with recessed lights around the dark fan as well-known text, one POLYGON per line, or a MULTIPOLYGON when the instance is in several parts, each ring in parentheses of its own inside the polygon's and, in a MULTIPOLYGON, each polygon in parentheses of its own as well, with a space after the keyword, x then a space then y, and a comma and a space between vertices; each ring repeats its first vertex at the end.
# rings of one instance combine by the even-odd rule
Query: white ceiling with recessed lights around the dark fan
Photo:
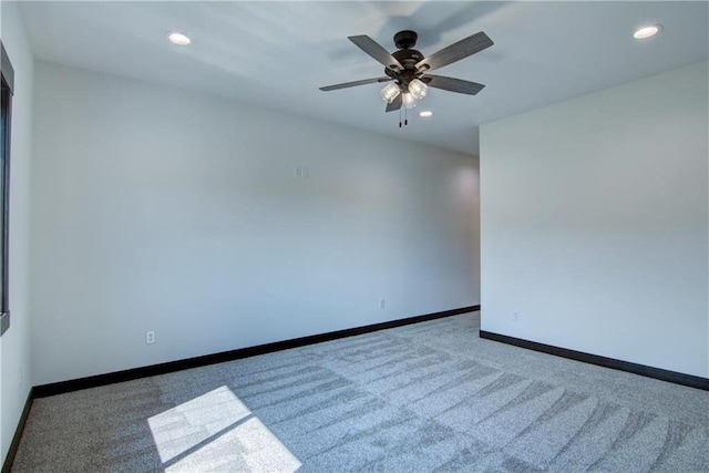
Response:
MULTIPOLYGON (((678 1, 255 1, 33 2, 22 14, 39 59, 173 84, 356 128, 477 154, 477 126, 709 56, 709 3, 678 1), (660 23, 638 41, 636 28, 660 23), (425 55, 485 31, 495 42, 438 70, 486 84, 476 96, 430 90, 399 128, 381 84, 321 92, 380 76, 347 40, 367 34, 389 51, 399 30, 425 55), (168 31, 193 43, 176 47, 168 31)), ((681 84, 678 84, 681 86, 681 84)))

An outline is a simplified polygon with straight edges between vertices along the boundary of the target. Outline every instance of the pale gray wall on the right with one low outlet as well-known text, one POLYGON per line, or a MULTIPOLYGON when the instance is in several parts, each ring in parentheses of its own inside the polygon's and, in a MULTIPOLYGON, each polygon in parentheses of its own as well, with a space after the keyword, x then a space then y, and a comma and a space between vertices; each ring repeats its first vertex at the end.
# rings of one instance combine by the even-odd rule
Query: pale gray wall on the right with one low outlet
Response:
POLYGON ((707 68, 482 126, 484 330, 709 377, 707 68))

